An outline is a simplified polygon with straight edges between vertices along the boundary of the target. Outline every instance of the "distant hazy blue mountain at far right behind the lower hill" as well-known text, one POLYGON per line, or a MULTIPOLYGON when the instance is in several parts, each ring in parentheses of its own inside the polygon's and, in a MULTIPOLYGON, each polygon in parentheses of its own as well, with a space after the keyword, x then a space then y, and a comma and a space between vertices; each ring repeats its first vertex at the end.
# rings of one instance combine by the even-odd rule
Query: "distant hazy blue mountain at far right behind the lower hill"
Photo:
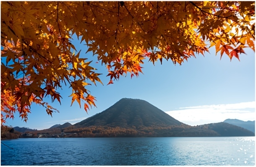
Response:
POLYGON ((249 131, 255 133, 255 121, 242 121, 239 119, 226 119, 223 122, 232 124, 232 125, 236 125, 238 127, 243 127, 244 129, 248 129, 249 131))

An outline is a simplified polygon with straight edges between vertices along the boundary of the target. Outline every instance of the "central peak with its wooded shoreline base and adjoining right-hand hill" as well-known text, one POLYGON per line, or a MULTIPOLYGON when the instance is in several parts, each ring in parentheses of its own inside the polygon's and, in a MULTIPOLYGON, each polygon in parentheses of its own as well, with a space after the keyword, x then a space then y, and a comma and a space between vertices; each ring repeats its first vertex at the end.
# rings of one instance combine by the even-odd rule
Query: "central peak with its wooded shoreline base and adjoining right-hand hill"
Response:
POLYGON ((123 98, 101 113, 81 122, 37 131, 65 137, 243 137, 247 129, 225 122, 190 126, 140 99, 123 98))

